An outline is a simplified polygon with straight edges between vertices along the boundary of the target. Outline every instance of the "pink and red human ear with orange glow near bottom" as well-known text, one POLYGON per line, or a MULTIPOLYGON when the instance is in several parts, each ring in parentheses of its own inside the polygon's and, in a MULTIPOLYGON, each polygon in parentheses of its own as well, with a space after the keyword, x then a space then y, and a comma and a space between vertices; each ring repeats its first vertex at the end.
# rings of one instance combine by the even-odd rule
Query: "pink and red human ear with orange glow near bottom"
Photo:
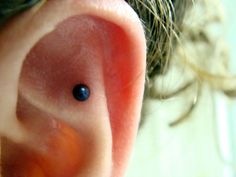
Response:
POLYGON ((123 0, 49 1, 1 33, 2 176, 123 176, 145 80, 133 10, 123 0), (83 101, 79 84, 90 91, 83 101))

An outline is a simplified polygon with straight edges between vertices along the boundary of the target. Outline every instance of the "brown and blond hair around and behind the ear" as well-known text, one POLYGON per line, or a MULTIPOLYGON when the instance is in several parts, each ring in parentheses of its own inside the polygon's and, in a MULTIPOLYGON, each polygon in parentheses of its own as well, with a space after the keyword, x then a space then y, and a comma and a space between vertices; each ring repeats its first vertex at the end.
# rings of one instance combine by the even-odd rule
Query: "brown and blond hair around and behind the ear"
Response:
MULTIPOLYGON (((38 2, 40 0, 1 0, 0 25, 38 2)), ((136 11, 145 29, 145 98, 165 100, 189 89, 196 92, 189 110, 170 126, 177 125, 189 116, 197 105, 204 84, 227 96, 236 96, 236 78, 228 72, 226 47, 218 35, 212 35, 212 26, 221 26, 222 23, 220 5, 216 0, 126 2, 136 11), (186 79, 182 85, 171 90, 164 85, 168 83, 168 74, 176 68, 186 75, 186 79), (156 82, 161 84, 157 86, 156 82), (197 89, 193 85, 197 85, 197 89)))

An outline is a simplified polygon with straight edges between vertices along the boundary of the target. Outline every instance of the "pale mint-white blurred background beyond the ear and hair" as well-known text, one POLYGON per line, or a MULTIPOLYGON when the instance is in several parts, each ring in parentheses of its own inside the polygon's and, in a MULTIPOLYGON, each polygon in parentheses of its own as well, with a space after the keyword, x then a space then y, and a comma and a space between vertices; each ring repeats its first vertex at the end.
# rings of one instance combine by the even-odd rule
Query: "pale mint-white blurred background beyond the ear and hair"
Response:
MULTIPOLYGON (((220 1, 229 67, 236 75, 236 1, 220 1)), ((236 177, 236 99, 203 90, 191 117, 172 128, 168 118, 186 107, 179 104, 184 98, 145 100, 146 120, 126 177, 236 177)))

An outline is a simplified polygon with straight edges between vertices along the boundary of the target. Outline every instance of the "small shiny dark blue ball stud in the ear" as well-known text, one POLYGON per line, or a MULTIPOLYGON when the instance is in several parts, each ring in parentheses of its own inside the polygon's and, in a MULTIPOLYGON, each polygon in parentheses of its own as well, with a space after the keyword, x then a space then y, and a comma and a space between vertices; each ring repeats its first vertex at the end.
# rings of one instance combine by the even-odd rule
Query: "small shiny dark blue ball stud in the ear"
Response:
POLYGON ((73 88, 73 96, 77 101, 86 101, 90 96, 90 89, 84 84, 78 84, 73 88))

